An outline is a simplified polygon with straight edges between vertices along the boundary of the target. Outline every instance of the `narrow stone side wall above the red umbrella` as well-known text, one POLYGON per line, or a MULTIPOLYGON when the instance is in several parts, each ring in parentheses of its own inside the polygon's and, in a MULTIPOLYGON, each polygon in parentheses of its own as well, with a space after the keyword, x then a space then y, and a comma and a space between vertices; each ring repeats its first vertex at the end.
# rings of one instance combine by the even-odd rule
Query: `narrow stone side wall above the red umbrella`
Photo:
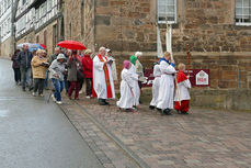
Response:
POLYGON ((94 51, 94 1, 65 1, 65 40, 82 42, 94 51))

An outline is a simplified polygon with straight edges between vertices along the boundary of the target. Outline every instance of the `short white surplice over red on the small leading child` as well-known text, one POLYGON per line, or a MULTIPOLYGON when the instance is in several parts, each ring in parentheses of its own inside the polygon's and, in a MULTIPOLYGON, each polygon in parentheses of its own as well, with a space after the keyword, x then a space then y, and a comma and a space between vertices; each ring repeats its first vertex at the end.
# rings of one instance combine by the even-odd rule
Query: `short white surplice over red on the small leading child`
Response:
POLYGON ((180 91, 180 99, 179 99, 179 94, 178 94, 178 90, 176 90, 174 101, 190 100, 191 99, 190 98, 190 91, 189 91, 189 88, 191 88, 190 79, 186 79, 182 82, 179 82, 178 87, 179 87, 179 91, 180 91))

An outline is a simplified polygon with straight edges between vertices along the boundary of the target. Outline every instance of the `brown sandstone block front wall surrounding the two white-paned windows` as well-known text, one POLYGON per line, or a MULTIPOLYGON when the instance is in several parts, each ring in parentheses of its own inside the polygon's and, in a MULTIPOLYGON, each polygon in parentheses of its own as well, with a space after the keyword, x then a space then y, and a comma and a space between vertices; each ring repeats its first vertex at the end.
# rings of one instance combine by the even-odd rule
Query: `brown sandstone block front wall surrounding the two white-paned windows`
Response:
MULTIPOLYGON (((112 48, 117 65, 136 52, 150 68, 156 58, 156 0, 103 0, 96 2, 95 43, 112 48)), ((160 25, 164 46, 166 25, 160 25)), ((251 26, 235 24, 235 0, 178 0, 178 23, 173 25, 176 63, 186 63, 186 44, 192 52, 191 68, 208 68, 210 88, 248 88, 251 63, 251 26)))

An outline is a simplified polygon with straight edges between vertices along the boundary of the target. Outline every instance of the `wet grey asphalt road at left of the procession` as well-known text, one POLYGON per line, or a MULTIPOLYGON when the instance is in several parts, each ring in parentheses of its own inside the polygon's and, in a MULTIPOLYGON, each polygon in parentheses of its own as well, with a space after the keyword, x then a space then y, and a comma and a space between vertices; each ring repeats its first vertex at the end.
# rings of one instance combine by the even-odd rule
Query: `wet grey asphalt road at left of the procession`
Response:
POLYGON ((15 86, 0 59, 0 168, 100 168, 60 109, 15 86))

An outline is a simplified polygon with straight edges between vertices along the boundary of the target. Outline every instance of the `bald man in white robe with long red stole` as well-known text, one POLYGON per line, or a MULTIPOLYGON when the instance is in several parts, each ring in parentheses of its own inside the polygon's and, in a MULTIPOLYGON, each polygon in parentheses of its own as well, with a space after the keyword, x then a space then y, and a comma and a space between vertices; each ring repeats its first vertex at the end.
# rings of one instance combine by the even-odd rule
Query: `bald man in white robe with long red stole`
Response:
POLYGON ((93 58, 93 97, 98 97, 100 105, 107 105, 107 99, 115 99, 112 64, 113 60, 105 57, 105 47, 101 47, 93 58))

